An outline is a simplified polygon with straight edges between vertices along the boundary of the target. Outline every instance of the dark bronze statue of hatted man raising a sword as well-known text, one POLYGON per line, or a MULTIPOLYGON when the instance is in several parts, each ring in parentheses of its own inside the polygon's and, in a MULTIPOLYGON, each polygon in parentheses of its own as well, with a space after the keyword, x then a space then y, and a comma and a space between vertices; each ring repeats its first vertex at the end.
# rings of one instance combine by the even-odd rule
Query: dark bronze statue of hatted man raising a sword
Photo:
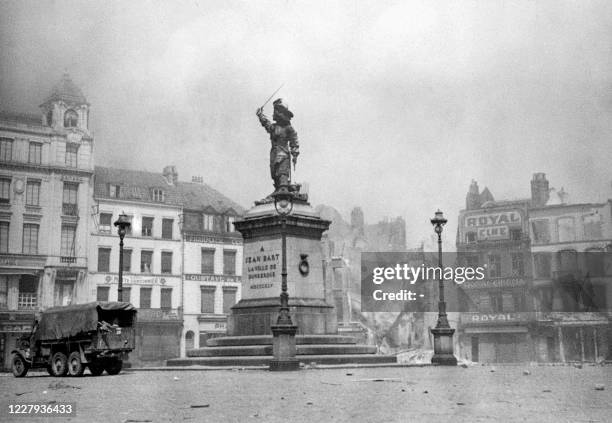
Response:
POLYGON ((257 109, 259 122, 270 134, 272 148, 270 149, 270 176, 274 181, 274 190, 281 187, 289 188, 291 182, 291 162, 295 168, 297 156, 300 154, 297 132, 291 126, 293 113, 282 99, 274 100, 272 120, 263 114, 263 106, 257 109))

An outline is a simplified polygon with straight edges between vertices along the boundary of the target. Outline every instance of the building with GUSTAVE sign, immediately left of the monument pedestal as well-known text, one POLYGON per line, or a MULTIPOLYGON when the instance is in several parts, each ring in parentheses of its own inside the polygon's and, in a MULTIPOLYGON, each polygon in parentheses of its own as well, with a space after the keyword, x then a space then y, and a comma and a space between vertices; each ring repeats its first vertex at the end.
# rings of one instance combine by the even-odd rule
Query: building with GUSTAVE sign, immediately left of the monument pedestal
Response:
POLYGON ((242 297, 242 235, 233 222, 244 210, 201 179, 180 183, 183 199, 184 328, 181 356, 225 335, 242 297))

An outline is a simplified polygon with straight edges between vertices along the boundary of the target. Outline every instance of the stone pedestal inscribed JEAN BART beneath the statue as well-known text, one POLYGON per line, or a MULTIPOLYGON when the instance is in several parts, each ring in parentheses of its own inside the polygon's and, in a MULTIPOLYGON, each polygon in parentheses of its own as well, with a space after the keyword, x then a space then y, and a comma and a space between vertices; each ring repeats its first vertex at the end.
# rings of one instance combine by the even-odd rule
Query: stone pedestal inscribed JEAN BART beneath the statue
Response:
MULTIPOLYGON (((336 334, 335 309, 325 299, 321 235, 331 222, 295 200, 286 217, 289 313, 300 335, 336 334)), ((281 293, 281 219, 273 203, 259 204, 235 222, 242 233, 242 298, 228 318, 229 336, 270 335, 281 293)))

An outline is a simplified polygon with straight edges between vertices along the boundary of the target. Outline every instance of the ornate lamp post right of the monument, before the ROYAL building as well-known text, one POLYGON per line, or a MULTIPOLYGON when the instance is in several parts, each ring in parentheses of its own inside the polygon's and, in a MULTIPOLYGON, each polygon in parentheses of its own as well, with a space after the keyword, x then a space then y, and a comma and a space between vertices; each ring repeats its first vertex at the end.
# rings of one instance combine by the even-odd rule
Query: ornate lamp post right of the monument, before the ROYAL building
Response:
POLYGON ((440 267, 440 279, 438 287, 440 298, 438 300, 438 322, 436 327, 431 329, 434 336, 434 355, 431 362, 434 364, 443 364, 447 366, 456 366, 457 359, 453 355, 453 334, 455 329, 452 329, 448 324, 446 316, 446 301, 444 301, 444 268, 442 267, 442 228, 448 222, 440 210, 438 210, 431 224, 434 226, 434 231, 438 234, 438 266, 440 267))

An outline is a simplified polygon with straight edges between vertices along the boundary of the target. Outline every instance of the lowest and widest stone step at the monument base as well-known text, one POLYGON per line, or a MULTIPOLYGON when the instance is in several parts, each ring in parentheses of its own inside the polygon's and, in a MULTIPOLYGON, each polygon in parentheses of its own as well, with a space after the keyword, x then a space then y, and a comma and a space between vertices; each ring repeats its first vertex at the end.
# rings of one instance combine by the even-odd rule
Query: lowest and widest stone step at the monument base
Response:
MULTIPOLYGON (((271 355, 235 357, 187 357, 166 361, 167 366, 267 366, 271 355)), ((397 363, 394 355, 339 354, 339 355, 298 355, 304 364, 389 364, 397 363)))

